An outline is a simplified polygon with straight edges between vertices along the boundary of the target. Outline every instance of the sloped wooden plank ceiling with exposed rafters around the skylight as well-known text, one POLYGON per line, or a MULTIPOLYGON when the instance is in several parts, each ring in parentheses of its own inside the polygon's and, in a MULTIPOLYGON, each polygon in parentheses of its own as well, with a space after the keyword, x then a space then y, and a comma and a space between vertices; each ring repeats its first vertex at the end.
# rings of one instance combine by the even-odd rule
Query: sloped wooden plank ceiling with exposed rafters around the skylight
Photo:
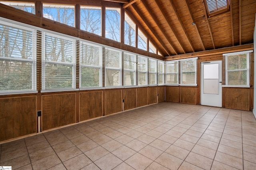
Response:
POLYGON ((229 0, 210 17, 204 0, 106 1, 123 3, 164 57, 253 43, 256 0, 229 0))

